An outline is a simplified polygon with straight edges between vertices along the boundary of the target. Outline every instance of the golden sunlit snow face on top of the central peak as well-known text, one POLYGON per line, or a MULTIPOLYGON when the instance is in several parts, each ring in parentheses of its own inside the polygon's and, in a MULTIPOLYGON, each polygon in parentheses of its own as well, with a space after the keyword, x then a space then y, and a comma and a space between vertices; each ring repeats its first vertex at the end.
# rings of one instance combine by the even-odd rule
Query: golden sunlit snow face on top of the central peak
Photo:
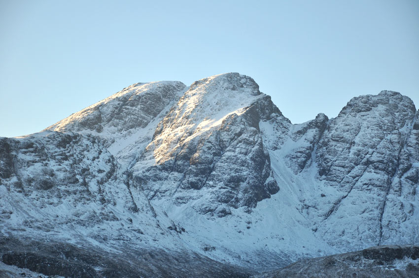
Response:
POLYGON ((253 79, 238 73, 196 81, 157 126, 153 159, 157 164, 170 160, 182 143, 221 125, 229 116, 242 115, 261 96, 253 79))

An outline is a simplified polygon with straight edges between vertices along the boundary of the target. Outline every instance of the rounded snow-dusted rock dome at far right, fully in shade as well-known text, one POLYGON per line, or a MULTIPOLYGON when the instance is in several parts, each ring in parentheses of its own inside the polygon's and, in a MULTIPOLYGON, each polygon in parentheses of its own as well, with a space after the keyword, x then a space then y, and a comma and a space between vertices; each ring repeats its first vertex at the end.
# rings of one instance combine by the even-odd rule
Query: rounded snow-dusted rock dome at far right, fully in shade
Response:
POLYGON ((412 151, 419 148, 412 132, 415 114, 410 98, 383 91, 351 99, 330 121, 316 149, 316 162, 319 180, 339 193, 322 212, 322 222, 329 224, 318 225, 323 238, 334 245, 358 241, 365 246, 393 242, 390 234, 400 234, 400 244, 418 242, 418 226, 411 222, 411 217, 418 219, 418 183, 404 177, 407 171, 409 177, 417 173, 411 161, 418 159, 412 151), (408 149, 409 139, 416 142, 408 149), (401 231, 405 221, 403 226, 410 228, 401 231))

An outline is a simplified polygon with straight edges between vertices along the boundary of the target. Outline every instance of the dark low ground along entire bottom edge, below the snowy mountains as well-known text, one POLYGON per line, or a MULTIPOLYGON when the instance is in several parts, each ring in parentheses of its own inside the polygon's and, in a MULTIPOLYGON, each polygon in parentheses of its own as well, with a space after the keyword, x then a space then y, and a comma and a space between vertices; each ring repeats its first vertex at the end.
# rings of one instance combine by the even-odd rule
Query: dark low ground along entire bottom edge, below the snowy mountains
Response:
POLYGON ((196 253, 127 247, 108 252, 57 242, 1 238, 0 277, 377 277, 418 278, 419 246, 380 246, 299 260, 256 272, 196 253))

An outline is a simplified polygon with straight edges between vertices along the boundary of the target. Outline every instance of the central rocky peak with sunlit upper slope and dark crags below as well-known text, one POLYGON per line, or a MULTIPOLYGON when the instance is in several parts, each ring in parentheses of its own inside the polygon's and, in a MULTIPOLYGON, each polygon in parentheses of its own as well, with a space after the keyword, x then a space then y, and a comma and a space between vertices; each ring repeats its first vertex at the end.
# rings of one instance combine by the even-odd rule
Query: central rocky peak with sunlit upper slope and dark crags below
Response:
POLYGON ((225 216, 276 193, 258 126, 257 103, 267 98, 238 73, 192 84, 132 167, 149 198, 225 216))

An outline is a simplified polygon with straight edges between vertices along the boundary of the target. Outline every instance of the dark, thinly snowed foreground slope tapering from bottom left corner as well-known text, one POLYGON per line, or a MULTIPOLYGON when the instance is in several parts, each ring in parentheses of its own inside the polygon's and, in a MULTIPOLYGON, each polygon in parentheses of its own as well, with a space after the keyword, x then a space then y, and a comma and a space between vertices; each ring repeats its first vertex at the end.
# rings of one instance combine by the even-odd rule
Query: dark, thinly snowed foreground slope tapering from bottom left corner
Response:
POLYGON ((245 278, 254 274, 199 254, 178 251, 129 246, 107 251, 94 246, 77 247, 61 242, 22 241, 14 238, 0 240, 1 262, 48 276, 245 278))

